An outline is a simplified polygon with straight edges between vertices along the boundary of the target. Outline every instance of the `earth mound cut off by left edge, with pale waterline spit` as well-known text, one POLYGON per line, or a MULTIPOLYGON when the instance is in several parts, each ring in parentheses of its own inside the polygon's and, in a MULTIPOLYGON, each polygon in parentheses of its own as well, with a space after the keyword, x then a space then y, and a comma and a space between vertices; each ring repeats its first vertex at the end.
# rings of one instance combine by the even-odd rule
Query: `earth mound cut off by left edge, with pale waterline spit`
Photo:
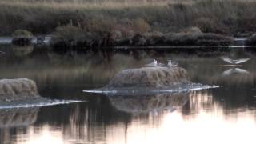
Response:
POLYGON ((0 110, 19 107, 52 106, 74 102, 82 101, 41 97, 38 94, 36 83, 27 78, 0 80, 0 110))

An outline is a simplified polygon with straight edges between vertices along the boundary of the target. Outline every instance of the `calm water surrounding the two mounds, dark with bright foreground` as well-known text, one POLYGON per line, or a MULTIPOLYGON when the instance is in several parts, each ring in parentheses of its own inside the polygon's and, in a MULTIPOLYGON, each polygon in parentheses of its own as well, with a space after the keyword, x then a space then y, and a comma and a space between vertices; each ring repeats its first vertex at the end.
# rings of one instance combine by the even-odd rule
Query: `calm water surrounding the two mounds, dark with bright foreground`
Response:
POLYGON ((43 97, 86 102, 0 110, 0 143, 155 144, 255 143, 256 53, 131 51, 58 54, 33 47, 1 46, 0 78, 31 78, 43 97), (250 58, 226 67, 221 56, 250 58), (193 82, 220 88, 181 94, 106 96, 82 90, 106 85, 118 71, 153 58, 172 58, 193 82), (229 71, 227 71, 229 70, 229 71))

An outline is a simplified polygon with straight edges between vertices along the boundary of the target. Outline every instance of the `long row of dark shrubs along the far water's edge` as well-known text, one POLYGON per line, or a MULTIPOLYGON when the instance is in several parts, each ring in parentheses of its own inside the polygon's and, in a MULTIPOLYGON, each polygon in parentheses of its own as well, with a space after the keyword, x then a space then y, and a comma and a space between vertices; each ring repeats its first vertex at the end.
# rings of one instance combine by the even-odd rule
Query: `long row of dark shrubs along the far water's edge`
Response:
POLYGON ((140 33, 124 35, 119 30, 93 32, 78 26, 59 26, 52 34, 51 46, 58 50, 84 50, 113 46, 230 46, 233 38, 221 34, 202 33, 198 27, 192 27, 180 33, 140 33))

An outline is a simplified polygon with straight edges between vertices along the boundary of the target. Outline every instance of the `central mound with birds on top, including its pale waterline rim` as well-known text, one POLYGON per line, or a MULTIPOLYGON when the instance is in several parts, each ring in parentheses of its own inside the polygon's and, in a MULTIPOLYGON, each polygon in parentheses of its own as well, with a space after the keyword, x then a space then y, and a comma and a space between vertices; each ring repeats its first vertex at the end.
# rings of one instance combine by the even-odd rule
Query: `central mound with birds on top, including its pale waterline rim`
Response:
POLYGON ((83 92, 121 96, 174 93, 216 87, 218 86, 191 82, 189 74, 181 67, 155 66, 122 70, 106 86, 94 90, 83 90, 83 92))

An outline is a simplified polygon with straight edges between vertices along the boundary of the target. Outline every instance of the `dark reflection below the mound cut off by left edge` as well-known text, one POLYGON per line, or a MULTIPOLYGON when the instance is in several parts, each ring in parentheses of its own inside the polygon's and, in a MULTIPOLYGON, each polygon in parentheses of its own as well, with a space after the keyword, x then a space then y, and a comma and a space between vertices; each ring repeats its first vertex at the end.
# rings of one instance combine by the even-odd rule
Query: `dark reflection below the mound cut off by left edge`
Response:
POLYGON ((29 126, 38 118, 38 108, 0 110, 0 127, 29 126))

